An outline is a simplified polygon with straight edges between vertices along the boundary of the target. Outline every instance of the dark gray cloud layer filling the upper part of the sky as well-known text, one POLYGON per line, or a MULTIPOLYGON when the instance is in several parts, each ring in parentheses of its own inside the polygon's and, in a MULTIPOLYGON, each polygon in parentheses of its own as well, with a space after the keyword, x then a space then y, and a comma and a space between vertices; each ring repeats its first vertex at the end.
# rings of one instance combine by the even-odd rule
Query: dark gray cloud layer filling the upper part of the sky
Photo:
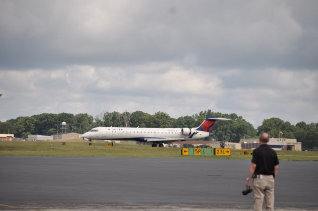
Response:
POLYGON ((183 61, 188 55, 198 66, 218 68, 318 65, 317 14, 306 10, 315 1, 301 8, 297 1, 1 4, 2 69, 183 61))

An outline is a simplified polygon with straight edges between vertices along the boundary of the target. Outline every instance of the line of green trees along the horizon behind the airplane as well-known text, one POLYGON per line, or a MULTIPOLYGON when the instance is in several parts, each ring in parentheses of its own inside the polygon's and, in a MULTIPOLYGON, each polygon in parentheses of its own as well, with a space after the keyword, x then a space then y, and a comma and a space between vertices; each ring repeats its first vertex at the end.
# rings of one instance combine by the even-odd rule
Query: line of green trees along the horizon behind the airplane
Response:
POLYGON ((218 121, 213 127, 212 136, 205 140, 239 142, 242 138, 257 138, 265 131, 271 137, 297 139, 302 141, 303 149, 318 149, 318 123, 305 122, 292 125, 279 118, 265 119, 257 129, 235 113, 223 114, 211 110, 201 111, 191 116, 172 118, 165 112, 151 115, 142 111, 123 113, 104 112, 92 117, 88 114, 43 113, 31 117, 18 117, 6 122, 0 122, 0 133, 14 134, 15 137, 26 138, 28 135, 46 135, 61 133, 60 124, 68 124, 67 132, 85 133, 94 127, 140 127, 140 128, 195 128, 206 116, 229 118, 234 121, 218 121))

